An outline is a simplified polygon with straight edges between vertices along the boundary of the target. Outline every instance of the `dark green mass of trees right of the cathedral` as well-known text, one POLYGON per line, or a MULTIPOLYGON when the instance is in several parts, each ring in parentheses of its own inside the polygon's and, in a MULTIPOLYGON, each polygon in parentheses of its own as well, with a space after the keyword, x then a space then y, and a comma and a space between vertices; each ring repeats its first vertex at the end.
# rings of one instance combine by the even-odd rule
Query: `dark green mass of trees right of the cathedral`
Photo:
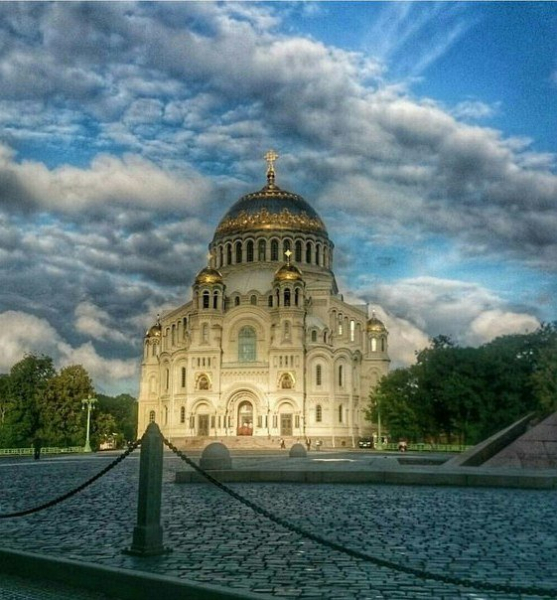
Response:
POLYGON ((441 335, 416 359, 370 394, 368 416, 392 439, 476 444, 529 412, 557 410, 557 322, 479 348, 441 335))

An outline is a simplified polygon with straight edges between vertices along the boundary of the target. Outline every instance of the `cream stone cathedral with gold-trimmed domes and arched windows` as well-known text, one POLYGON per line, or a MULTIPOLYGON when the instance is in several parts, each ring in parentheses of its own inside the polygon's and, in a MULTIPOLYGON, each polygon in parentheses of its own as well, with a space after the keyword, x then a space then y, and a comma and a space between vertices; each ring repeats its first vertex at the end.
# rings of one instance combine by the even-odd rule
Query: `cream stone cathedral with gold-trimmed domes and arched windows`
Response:
POLYGON ((370 389, 389 368, 388 332, 344 302, 334 244, 298 194, 267 183, 218 224, 192 300, 146 333, 138 431, 177 445, 280 438, 353 447, 371 437, 370 389))

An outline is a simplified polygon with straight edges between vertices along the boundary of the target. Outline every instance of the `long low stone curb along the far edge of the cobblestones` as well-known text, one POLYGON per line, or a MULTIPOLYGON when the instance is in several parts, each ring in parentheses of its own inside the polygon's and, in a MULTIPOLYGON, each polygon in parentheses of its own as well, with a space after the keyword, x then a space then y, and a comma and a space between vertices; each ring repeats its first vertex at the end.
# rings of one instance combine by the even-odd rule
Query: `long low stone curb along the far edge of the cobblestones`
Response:
MULTIPOLYGON (((446 485, 458 487, 504 487, 520 489, 557 489, 557 474, 488 473, 485 470, 458 471, 393 469, 370 471, 290 471, 231 470, 211 471, 222 483, 384 483, 394 485, 446 485)), ((194 471, 177 471, 176 483, 207 483, 194 471)))

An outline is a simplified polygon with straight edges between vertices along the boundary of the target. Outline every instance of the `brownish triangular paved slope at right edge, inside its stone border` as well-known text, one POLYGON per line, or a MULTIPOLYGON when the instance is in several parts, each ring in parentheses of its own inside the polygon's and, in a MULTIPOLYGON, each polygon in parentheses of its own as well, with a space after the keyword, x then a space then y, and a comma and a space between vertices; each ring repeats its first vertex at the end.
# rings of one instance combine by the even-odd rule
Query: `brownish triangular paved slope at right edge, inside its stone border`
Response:
POLYGON ((557 468, 557 413, 532 427, 487 460, 484 467, 557 468))

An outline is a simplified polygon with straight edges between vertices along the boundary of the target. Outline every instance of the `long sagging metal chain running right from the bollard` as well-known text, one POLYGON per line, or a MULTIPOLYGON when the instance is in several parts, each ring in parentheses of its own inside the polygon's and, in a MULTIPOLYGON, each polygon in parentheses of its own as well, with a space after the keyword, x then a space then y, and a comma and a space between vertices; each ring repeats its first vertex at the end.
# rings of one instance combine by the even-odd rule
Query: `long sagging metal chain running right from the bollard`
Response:
POLYGON ((209 481, 210 483, 212 483, 213 485, 215 485, 216 487, 221 489, 223 492, 225 492, 229 496, 232 496, 232 498, 235 498, 236 500, 238 500, 245 506, 251 508, 257 514, 266 517, 273 523, 276 523, 277 525, 280 525, 281 527, 284 527, 285 529, 288 529, 289 531, 296 533, 296 534, 300 535, 301 537, 312 540, 313 542, 316 542, 322 546, 330 548, 331 550, 336 550, 337 552, 342 552, 343 554, 347 554, 348 556, 351 556, 353 558, 358 558, 365 562, 372 563, 378 567, 385 567, 385 568, 391 569, 393 571, 398 571, 400 573, 406 573, 408 575, 413 575, 414 577, 418 577, 420 579, 430 579, 432 581, 439 581, 441 583, 463 586, 463 587, 468 587, 468 588, 472 588, 472 589, 476 589, 476 590, 503 592, 503 593, 507 593, 507 594, 518 594, 518 595, 523 594, 523 595, 527 595, 527 596, 539 596, 542 598, 557 598, 557 590, 551 590, 551 589, 544 588, 544 587, 524 587, 524 586, 515 586, 515 585, 509 585, 509 584, 503 584, 503 583, 489 583, 488 581, 473 581, 471 579, 452 577, 450 575, 441 575, 441 574, 437 574, 437 573, 431 573, 431 572, 425 571, 423 569, 416 569, 414 567, 408 567, 406 565, 401 565, 399 563, 396 563, 396 562, 393 562, 390 560, 386 560, 383 558, 379 558, 377 556, 371 556, 369 554, 365 554, 364 552, 360 552, 358 550, 352 550, 351 548, 346 548, 346 547, 342 546, 341 544, 338 544, 336 542, 333 542, 331 540, 323 538, 320 535, 312 533, 311 531, 307 531, 307 530, 303 529, 302 527, 299 527, 298 525, 294 525, 293 523, 290 523, 286 519, 277 517, 273 513, 266 510, 265 508, 255 504, 251 500, 248 500, 241 494, 238 494, 237 492, 235 492, 234 490, 229 488, 224 483, 221 483, 220 481, 215 479, 212 475, 207 473, 199 465, 197 465, 190 458, 188 458, 184 452, 182 452, 181 450, 178 450, 178 448, 176 448, 176 446, 174 446, 174 444, 172 444, 172 442, 167 440, 165 437, 163 437, 163 442, 166 444, 166 446, 168 446, 168 448, 170 448, 170 450, 172 450, 184 462, 186 462, 190 467, 192 467, 195 471, 197 471, 200 475, 202 475, 205 479, 207 479, 207 481, 209 481))

